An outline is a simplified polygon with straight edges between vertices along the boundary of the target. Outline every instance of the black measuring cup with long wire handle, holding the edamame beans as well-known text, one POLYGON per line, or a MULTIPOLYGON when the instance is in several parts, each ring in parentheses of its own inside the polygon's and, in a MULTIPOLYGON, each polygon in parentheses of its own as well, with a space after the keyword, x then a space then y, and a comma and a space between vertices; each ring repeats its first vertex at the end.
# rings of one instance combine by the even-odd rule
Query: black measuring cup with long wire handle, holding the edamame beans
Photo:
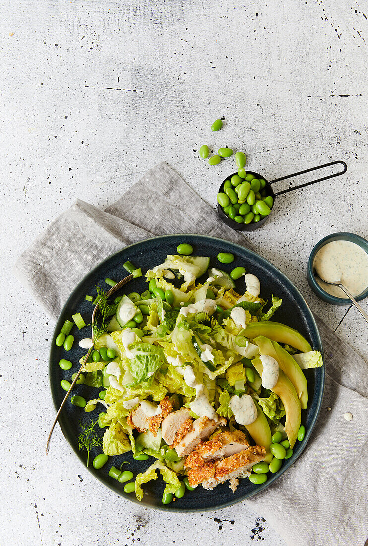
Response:
MULTIPOLYGON (((321 182, 322 180, 328 180, 330 178, 334 178, 335 176, 340 176, 341 174, 346 173, 346 171, 347 171, 346 163, 344 163, 343 161, 332 161, 331 163, 325 163, 324 165, 318 165, 318 167, 312 167, 311 169, 305 169, 304 171, 299 171, 299 173, 288 174, 287 176, 281 176, 281 178, 276 178, 275 180, 268 181, 263 175, 261 175, 259 173, 254 173, 254 171, 249 171, 248 169, 246 170, 247 174, 252 174, 257 179, 262 178, 263 180, 266 180, 266 186, 264 187, 264 189, 267 189, 267 195, 271 195, 273 197, 273 200, 274 200, 273 205, 271 207, 271 212, 272 212, 273 207, 275 206, 275 199, 276 199, 276 197, 278 195, 282 195, 283 193, 292 192, 294 189, 304 188, 305 186, 311 186, 312 184, 316 184, 317 182, 321 182), (339 171, 339 173, 329 174, 328 176, 323 176, 322 178, 318 178, 317 180, 312 180, 311 182, 305 182, 304 184, 299 184, 299 186, 294 186, 293 188, 283 189, 281 192, 274 192, 273 191, 272 184, 274 184, 275 182, 280 182, 280 180, 286 180, 288 178, 292 178, 293 176, 298 176, 300 174, 305 174, 305 173, 311 173, 311 171, 323 169, 325 167, 330 167, 331 165, 338 165, 338 164, 343 165, 343 170, 339 171)), ((222 182, 222 184, 220 186, 220 189, 219 189, 219 192, 224 192, 224 183, 226 182, 226 180, 230 180, 231 177, 234 174, 238 174, 238 173, 232 173, 230 176, 227 176, 227 178, 224 180, 224 182, 222 182)), ((245 180, 244 180, 244 182, 245 182, 245 180)), ((222 210, 222 208, 221 208, 221 206, 219 204, 217 206, 217 210, 218 210, 218 213, 219 213, 219 216, 220 216, 221 220, 223 222, 225 222, 225 224, 228 225, 228 227, 230 227, 232 229, 235 229, 238 232, 251 232, 254 229, 260 228, 261 225, 264 224, 264 222, 267 222, 267 219, 271 215, 271 213, 270 213, 268 216, 265 216, 259 222, 256 222, 256 223, 238 224, 238 222, 235 222, 234 220, 232 220, 231 218, 226 216, 225 212, 222 210)))

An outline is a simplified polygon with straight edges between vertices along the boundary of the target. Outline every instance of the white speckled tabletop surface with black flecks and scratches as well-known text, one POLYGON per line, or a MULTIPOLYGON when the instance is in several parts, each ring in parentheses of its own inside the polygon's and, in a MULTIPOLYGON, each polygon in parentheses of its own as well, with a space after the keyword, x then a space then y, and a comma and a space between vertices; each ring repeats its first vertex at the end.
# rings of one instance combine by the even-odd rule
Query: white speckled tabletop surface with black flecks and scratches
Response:
POLYGON ((285 544, 242 503, 183 516, 131 505, 59 430, 46 458, 53 324, 10 277, 76 197, 105 207, 160 160, 214 205, 233 161, 208 167, 203 143, 246 152, 268 179, 342 159, 346 175, 281 197, 251 240, 368 360, 354 309, 324 304, 305 278, 323 236, 367 236, 368 8, 283 4, 0 1, 2 546, 285 544))

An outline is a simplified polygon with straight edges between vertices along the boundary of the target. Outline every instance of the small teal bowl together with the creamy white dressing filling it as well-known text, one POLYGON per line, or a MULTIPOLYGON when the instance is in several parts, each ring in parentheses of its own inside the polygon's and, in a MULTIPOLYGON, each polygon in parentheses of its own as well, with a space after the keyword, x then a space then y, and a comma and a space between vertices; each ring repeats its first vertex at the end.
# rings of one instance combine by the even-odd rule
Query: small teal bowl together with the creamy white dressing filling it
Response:
POLYGON ((368 296, 368 241, 354 233, 333 233, 313 248, 307 265, 307 280, 319 298, 334 305, 347 305, 350 300, 338 286, 341 283, 356 300, 368 296))

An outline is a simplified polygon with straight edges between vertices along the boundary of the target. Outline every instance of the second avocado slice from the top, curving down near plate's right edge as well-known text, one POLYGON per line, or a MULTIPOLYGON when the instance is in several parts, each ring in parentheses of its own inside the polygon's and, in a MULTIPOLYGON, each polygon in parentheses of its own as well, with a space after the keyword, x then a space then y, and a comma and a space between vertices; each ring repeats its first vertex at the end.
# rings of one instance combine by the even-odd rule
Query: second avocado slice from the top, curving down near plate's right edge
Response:
POLYGON ((308 385, 304 373, 300 370, 292 355, 285 351, 279 343, 269 340, 268 337, 258 336, 254 338, 253 342, 258 345, 261 354, 268 354, 277 360, 281 370, 286 373, 294 385, 301 409, 305 410, 308 403, 308 385))

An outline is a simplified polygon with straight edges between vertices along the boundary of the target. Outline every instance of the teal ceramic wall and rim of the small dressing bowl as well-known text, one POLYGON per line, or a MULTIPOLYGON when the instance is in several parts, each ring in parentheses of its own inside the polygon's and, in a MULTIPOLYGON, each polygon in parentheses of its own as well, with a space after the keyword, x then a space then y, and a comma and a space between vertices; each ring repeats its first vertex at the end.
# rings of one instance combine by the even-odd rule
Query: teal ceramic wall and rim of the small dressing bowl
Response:
MULTIPOLYGON (((363 237, 360 237, 359 235, 355 235, 355 233, 332 233, 331 235, 327 235, 327 237, 324 237, 317 243, 317 245, 313 248, 311 255, 308 260, 307 264, 307 280, 309 282, 309 286, 313 290, 315 294, 317 294, 318 298, 321 298, 323 301, 327 301, 328 304, 333 305, 348 305, 350 303, 350 300, 348 298, 336 298, 336 296, 332 296, 331 294, 328 294, 319 286, 319 284, 316 281, 315 274, 313 272, 313 262, 315 260, 317 252, 322 248, 324 245, 327 245, 328 242, 331 241, 351 241, 354 242, 356 245, 359 245, 363 250, 368 254, 368 241, 363 239, 363 237)), ((355 299, 356 300, 363 300, 368 296, 368 286, 362 292, 359 294, 355 299)))

